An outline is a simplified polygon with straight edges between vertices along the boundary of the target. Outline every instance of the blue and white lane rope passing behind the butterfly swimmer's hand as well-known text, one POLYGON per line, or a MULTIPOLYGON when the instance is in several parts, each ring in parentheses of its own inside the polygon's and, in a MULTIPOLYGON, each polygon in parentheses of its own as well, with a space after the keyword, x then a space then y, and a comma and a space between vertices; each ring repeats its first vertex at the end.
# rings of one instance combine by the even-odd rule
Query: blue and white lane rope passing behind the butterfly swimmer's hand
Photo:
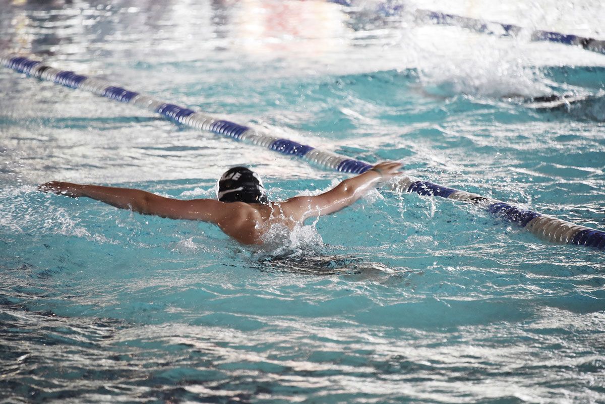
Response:
MULTIPOLYGON (((253 145, 263 146, 273 151, 286 155, 293 155, 303 160, 309 161, 323 168, 333 169, 340 172, 350 172, 352 174, 361 174, 372 168, 372 165, 354 158, 343 157, 341 155, 321 151, 312 146, 302 145, 285 138, 273 137, 269 134, 258 132, 248 126, 228 120, 215 119, 203 112, 196 112, 189 108, 174 105, 167 102, 154 99, 145 94, 136 91, 126 90, 121 86, 112 85, 105 80, 95 79, 94 77, 76 74, 73 71, 57 70, 42 64, 37 60, 28 59, 23 56, 14 56, 12 54, 0 54, 0 63, 5 67, 11 68, 19 73, 25 73, 28 76, 36 77, 42 80, 68 86, 70 88, 80 88, 91 91, 99 96, 111 98, 120 102, 126 102, 137 105, 149 111, 157 112, 193 128, 204 131, 214 132, 215 134, 252 143, 253 145)), ((471 194, 465 191, 459 191, 450 187, 431 183, 430 181, 417 181, 409 177, 401 178, 396 184, 393 184, 394 191, 415 192, 420 195, 431 195, 436 197, 448 198, 451 200, 465 201, 477 204, 497 217, 504 218, 511 223, 516 223, 529 232, 542 239, 559 244, 577 244, 580 246, 595 247, 605 249, 605 232, 591 229, 590 227, 578 226, 574 223, 557 219, 543 213, 525 210, 492 198, 485 198, 477 194, 471 194)))

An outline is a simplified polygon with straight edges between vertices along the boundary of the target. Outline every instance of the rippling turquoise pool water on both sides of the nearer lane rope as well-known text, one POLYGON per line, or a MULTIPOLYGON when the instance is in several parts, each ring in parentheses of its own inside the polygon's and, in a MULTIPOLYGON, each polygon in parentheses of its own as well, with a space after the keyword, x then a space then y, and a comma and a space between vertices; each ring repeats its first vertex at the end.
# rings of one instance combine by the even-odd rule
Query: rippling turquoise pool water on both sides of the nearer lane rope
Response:
MULTIPOLYGON (((605 229, 605 56, 370 3, 1 5, 4 48, 605 229), (590 97, 523 105, 553 91, 590 97)), ((243 164, 280 199, 346 175, 7 69, 0 82, 3 402, 605 402, 603 252, 416 194, 373 192, 268 251, 41 194, 66 180, 212 198, 243 164)))

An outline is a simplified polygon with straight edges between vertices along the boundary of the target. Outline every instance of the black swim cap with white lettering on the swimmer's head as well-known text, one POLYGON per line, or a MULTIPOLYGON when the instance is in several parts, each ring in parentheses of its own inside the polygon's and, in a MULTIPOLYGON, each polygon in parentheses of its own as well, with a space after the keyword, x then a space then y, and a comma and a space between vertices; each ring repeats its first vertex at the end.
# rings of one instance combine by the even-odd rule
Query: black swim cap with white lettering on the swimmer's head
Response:
POLYGON ((267 203, 267 192, 257 173, 246 167, 234 167, 218 180, 217 199, 221 202, 267 203))

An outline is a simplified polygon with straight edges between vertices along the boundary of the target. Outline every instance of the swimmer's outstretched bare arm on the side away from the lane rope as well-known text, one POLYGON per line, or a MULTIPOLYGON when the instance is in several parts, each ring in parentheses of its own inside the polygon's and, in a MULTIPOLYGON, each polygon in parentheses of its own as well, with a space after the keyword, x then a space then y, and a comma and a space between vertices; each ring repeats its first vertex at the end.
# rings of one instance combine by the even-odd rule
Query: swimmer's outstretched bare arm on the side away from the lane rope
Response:
POLYGON ((226 215, 224 202, 212 199, 179 200, 165 198, 140 189, 51 181, 39 186, 40 191, 54 192, 72 198, 87 197, 128 209, 143 215, 171 219, 203 220, 217 223, 226 215))

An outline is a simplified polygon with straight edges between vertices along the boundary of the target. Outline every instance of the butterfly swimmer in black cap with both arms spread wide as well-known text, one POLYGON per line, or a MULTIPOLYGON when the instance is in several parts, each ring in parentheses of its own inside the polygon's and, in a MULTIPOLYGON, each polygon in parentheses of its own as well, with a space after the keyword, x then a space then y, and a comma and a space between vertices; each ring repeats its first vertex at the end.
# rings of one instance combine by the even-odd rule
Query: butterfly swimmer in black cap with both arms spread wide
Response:
POLYGON ((374 186, 401 174, 399 168, 400 163, 384 161, 323 194, 293 197, 283 202, 269 201, 261 178, 244 167, 234 167, 223 174, 217 183, 216 200, 179 200, 139 189, 60 181, 42 184, 39 189, 72 198, 88 197, 143 215, 207 221, 241 244, 263 244, 263 236, 273 224, 293 230, 307 218, 338 212, 374 186))

